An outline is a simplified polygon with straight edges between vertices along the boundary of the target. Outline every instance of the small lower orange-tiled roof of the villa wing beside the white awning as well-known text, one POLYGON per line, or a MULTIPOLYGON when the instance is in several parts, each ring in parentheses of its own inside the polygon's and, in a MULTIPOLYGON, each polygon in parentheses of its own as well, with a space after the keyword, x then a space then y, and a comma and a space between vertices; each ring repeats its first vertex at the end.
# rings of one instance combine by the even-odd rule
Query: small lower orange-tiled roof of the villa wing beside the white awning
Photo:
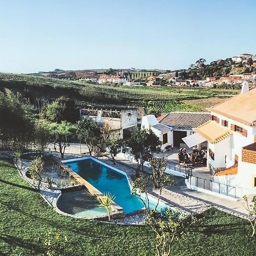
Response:
POLYGON ((221 126, 215 121, 208 121, 193 130, 203 136, 208 142, 213 144, 218 143, 232 135, 232 132, 227 127, 221 126))

